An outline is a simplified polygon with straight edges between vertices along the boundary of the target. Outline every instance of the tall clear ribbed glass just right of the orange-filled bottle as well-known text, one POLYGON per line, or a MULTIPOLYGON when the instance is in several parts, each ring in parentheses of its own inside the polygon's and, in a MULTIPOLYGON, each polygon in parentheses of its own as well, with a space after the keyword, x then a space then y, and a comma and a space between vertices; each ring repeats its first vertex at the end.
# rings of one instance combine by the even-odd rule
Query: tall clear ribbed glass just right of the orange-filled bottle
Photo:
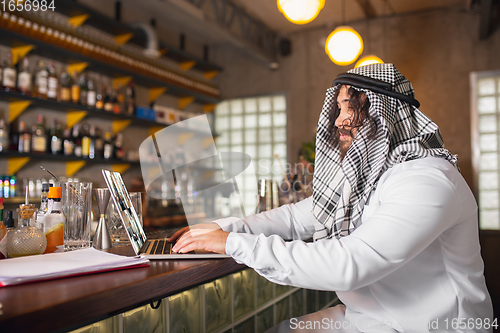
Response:
POLYGON ((66 217, 64 250, 90 247, 92 221, 92 183, 62 182, 61 202, 66 217))

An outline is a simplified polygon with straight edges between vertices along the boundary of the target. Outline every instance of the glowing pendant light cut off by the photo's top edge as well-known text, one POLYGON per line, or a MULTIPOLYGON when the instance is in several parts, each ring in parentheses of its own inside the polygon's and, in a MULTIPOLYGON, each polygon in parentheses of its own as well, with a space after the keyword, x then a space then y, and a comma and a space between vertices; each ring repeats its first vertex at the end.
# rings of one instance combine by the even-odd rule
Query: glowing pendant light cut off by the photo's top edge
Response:
POLYGON ((278 9, 288 21, 306 24, 318 16, 325 0, 278 0, 278 9))

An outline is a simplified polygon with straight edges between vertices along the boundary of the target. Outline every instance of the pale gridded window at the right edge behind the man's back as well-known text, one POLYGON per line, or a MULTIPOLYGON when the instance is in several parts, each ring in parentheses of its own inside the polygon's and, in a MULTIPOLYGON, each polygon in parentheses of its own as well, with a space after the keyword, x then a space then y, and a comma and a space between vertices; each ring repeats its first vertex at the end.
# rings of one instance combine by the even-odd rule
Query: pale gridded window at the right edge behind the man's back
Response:
POLYGON ((479 227, 500 229, 500 72, 471 74, 472 163, 479 227))

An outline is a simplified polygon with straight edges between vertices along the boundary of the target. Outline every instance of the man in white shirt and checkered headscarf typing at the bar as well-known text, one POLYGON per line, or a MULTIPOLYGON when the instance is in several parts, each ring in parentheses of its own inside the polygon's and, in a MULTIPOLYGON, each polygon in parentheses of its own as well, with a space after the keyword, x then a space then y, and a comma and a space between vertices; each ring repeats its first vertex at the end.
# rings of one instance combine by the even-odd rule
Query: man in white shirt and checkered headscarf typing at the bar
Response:
POLYGON ((314 321, 335 332, 491 332, 477 205, 418 107, 392 64, 339 75, 318 124, 313 196, 181 230, 174 251, 225 252, 272 282, 343 302, 279 332, 314 321))

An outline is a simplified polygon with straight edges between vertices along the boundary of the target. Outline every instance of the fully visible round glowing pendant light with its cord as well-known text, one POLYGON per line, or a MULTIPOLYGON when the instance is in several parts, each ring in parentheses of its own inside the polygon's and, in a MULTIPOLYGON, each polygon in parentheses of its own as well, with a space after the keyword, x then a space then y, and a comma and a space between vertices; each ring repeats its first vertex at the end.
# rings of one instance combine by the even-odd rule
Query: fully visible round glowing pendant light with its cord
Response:
MULTIPOLYGON (((345 1, 342 1, 342 22, 345 22, 345 1)), ((325 52, 335 64, 350 65, 363 52, 363 39, 351 27, 337 27, 326 38, 325 52)))

